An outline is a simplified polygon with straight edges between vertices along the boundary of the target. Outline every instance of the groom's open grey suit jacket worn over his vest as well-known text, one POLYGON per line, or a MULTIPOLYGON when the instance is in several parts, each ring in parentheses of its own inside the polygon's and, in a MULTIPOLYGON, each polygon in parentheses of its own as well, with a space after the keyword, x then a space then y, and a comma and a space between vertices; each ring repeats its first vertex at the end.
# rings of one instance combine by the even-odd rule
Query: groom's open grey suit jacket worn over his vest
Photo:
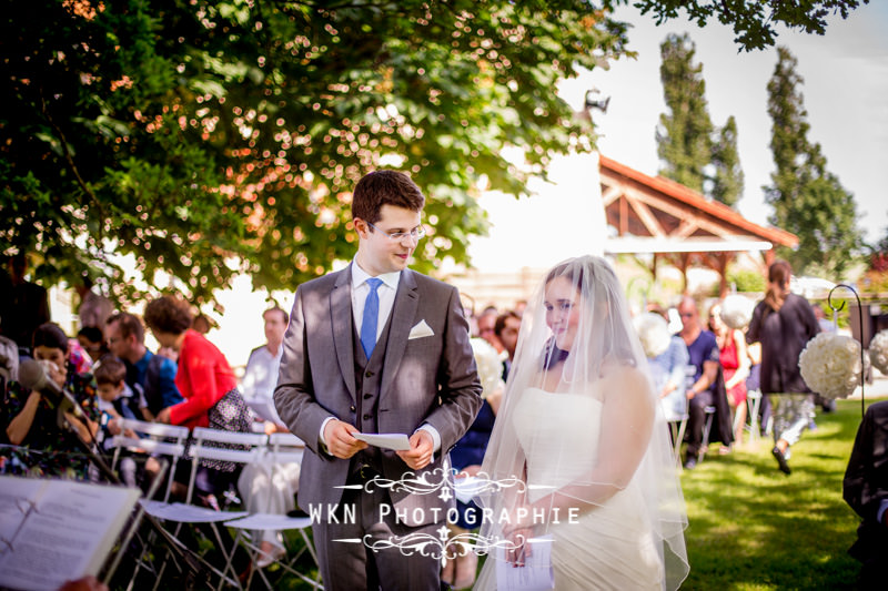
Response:
MULTIPOLYGON (((351 289, 351 265, 300 286, 284 335, 274 404, 287 428, 312 451, 300 476, 299 503, 304 510, 339 502, 342 489, 335 487, 349 477, 350 460, 322 450, 319 435, 331 416, 357 425, 352 408, 361 393, 355 391, 351 289)), ((401 273, 390 322, 377 427, 380 432, 412 435, 428 424, 437 430, 441 451, 416 473, 423 478, 436 468, 448 469, 447 452, 481 408, 468 323, 455 287, 411 269, 401 273), (434 335, 408 339, 411 328, 422 320, 434 335)), ((383 477, 392 480, 411 471, 391 450, 382 450, 382 468, 383 477)), ((432 509, 448 507, 436 492, 410 493, 396 487, 390 497, 401 514, 410 513, 411 526, 440 521, 443 511, 435 516, 432 509), (414 512, 416 508, 423 510, 414 512)))

